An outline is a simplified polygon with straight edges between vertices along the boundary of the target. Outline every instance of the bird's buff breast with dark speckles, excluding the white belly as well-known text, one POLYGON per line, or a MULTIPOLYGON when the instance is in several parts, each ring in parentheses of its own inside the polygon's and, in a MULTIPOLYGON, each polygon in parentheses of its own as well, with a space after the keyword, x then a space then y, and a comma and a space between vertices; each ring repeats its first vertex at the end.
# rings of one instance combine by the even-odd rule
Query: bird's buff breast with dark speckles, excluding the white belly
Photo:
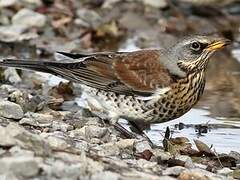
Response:
POLYGON ((146 108, 146 121, 152 123, 176 119, 188 112, 203 94, 205 86, 205 71, 192 73, 178 80, 155 103, 146 108), (148 112, 148 113, 147 113, 148 112))

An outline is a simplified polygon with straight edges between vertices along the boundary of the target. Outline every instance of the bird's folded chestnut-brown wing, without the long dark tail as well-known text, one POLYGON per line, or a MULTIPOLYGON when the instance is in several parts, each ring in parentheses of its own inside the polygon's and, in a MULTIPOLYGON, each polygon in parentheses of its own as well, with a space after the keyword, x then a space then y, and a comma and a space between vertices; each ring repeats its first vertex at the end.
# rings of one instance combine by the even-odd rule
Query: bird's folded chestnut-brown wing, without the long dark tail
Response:
POLYGON ((122 94, 151 94, 173 82, 159 58, 156 50, 93 54, 86 56, 84 67, 69 73, 95 88, 122 94))

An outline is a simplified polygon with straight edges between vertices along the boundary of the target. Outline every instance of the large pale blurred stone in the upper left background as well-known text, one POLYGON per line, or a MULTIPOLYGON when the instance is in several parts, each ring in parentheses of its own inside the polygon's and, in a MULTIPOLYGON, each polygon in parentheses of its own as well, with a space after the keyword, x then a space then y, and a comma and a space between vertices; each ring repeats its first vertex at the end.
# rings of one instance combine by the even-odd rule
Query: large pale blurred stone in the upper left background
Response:
POLYGON ((43 27, 47 22, 46 16, 36 13, 30 9, 21 9, 12 18, 13 24, 25 25, 28 28, 31 27, 43 27))

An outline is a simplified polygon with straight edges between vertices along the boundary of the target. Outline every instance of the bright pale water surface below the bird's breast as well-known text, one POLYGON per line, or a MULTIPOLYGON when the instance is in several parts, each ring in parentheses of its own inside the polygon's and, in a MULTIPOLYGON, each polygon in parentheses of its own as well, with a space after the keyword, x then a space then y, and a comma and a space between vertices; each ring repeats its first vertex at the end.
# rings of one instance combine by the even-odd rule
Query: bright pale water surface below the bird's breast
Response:
POLYGON ((236 127, 228 127, 225 126, 225 124, 231 124, 231 122, 216 120, 207 115, 209 115, 209 112, 206 110, 192 109, 176 120, 152 125, 151 130, 147 132, 147 134, 154 143, 161 145, 166 127, 169 126, 170 129, 173 130, 173 137, 187 137, 192 144, 194 144, 193 139, 199 139, 209 146, 213 145, 213 148, 215 148, 217 152, 239 151, 240 122, 235 124, 236 127), (208 124, 207 126, 213 128, 210 128, 206 134, 202 133, 201 136, 199 136, 194 126, 178 130, 175 124, 179 124, 180 122, 186 125, 208 124), (214 128, 215 125, 218 125, 217 127, 220 128, 214 128))

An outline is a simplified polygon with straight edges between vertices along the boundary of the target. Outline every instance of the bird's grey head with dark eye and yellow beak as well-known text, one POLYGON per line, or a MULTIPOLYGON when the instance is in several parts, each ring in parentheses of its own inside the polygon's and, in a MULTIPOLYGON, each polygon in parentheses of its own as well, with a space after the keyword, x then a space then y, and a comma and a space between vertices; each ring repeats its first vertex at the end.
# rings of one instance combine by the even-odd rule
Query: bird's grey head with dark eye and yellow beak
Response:
POLYGON ((216 50, 230 44, 230 40, 216 36, 192 36, 181 40, 171 49, 178 66, 185 72, 206 69, 216 50))

